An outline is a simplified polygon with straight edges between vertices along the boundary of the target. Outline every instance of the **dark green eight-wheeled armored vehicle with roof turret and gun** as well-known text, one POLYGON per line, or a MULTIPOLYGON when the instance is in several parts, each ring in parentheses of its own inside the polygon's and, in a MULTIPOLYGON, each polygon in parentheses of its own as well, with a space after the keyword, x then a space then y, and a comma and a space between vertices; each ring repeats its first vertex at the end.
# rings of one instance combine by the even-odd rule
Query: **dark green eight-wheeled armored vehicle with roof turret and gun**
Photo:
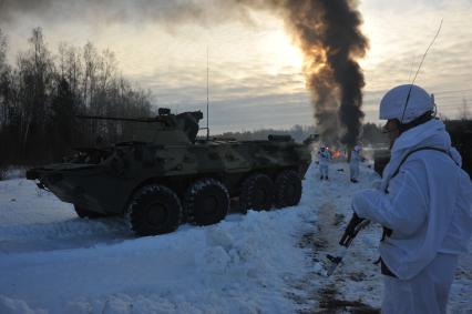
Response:
POLYGON ((142 128, 133 141, 76 149, 66 163, 31 169, 27 179, 72 203, 80 217, 124 215, 138 235, 172 232, 182 222, 216 223, 233 197, 243 212, 298 204, 311 161, 307 143, 289 135, 198 140, 201 111, 158 113, 140 120, 82 117, 142 128))

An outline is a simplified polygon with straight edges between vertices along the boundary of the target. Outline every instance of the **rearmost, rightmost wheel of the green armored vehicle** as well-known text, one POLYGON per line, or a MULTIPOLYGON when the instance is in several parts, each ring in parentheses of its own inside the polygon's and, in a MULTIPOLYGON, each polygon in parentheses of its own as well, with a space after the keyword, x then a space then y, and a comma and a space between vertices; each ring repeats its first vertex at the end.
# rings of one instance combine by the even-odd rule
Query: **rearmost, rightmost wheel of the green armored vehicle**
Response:
POLYGON ((301 179, 294 170, 284 170, 276 179, 275 206, 277 209, 294 206, 300 202, 301 179))

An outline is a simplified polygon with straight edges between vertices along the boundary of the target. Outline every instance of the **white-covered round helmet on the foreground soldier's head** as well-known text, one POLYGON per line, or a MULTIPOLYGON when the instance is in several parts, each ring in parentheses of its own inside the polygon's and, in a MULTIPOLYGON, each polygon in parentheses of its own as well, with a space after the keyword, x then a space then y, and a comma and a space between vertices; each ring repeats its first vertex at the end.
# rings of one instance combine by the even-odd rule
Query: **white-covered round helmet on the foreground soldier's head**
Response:
POLYGON ((386 93, 380 101, 379 118, 381 120, 398 119, 400 123, 404 124, 432 110, 434 110, 434 98, 432 95, 418 85, 404 84, 386 93), (409 92, 410 98, 407 109, 404 109, 409 92))

